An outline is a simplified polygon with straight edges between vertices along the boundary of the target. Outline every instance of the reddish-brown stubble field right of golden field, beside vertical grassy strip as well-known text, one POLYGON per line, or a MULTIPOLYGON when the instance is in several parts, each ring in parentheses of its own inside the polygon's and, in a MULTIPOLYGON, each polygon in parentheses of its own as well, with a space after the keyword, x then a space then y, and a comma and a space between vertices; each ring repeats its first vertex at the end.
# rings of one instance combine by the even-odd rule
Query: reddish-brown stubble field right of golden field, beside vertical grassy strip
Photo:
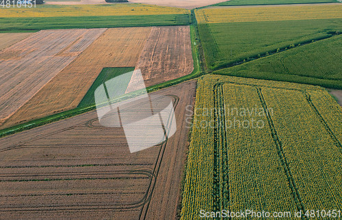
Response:
MULTIPOLYGON (((190 74, 194 60, 189 26, 153 27, 135 66, 147 87, 190 74)), ((127 92, 136 87, 133 75, 127 92)))

